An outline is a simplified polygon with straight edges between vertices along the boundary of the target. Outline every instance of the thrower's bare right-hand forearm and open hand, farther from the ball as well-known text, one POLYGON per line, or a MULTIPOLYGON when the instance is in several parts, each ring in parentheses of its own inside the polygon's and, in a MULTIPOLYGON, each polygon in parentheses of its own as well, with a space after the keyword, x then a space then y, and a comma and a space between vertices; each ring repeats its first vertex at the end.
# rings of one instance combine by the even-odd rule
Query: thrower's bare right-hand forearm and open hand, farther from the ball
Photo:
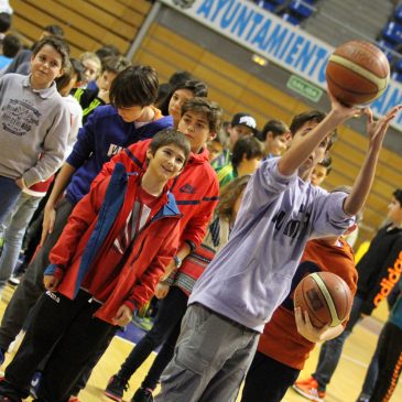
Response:
POLYGON ((344 210, 346 214, 356 215, 363 207, 374 180, 378 157, 390 121, 396 117, 401 109, 402 105, 393 107, 378 121, 373 120, 371 109, 368 108, 365 110, 368 119, 367 132, 369 135, 369 149, 360 167, 360 172, 355 180, 352 189, 345 199, 344 210))

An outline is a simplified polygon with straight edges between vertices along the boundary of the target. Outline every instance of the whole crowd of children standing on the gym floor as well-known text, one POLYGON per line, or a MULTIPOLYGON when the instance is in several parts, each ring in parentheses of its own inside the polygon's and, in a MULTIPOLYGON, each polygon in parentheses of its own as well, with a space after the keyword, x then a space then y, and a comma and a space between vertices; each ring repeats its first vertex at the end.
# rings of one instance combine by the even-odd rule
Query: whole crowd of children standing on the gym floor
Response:
MULTIPOLYGON (((153 67, 132 66, 115 46, 70 58, 63 36, 46 26, 22 51, 3 39, 0 292, 26 228, 40 222, 42 231, 30 235, 36 252, 1 320, 0 365, 24 337, 0 380, 0 402, 28 398, 37 371, 35 401, 77 402, 116 332, 153 295, 153 327, 110 373, 110 399, 122 400, 161 346, 131 402, 153 401, 159 382, 161 402, 231 402, 242 383, 243 402, 279 402, 292 385, 322 401, 344 341, 385 297, 388 268, 401 264, 401 189, 356 268, 345 239, 402 106, 374 120, 369 108, 329 95, 327 115, 305 111, 290 127, 273 119, 259 131, 242 111, 225 124, 207 84, 191 74, 160 85, 153 67), (356 116, 368 120, 366 157, 350 188, 328 193, 319 186, 336 129, 356 116), (337 273, 356 293, 347 323, 315 328, 294 309, 293 290, 316 271, 337 273), (297 381, 324 340, 316 372, 297 381)), ((392 394, 401 303, 373 357, 377 382, 359 401, 392 394)))

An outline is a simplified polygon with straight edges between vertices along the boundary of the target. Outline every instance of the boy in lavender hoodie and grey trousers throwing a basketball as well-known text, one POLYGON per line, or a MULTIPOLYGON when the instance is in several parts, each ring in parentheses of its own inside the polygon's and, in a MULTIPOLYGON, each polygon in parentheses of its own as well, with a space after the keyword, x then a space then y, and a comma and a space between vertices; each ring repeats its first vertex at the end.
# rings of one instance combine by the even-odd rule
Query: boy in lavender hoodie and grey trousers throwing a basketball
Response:
POLYGON ((359 111, 332 99, 319 123, 309 121, 290 149, 251 177, 226 247, 189 297, 175 355, 162 376, 157 402, 235 401, 259 334, 289 294, 306 241, 341 235, 363 206, 389 121, 369 109, 369 149, 350 195, 328 194, 308 178, 325 157, 328 135, 359 111))

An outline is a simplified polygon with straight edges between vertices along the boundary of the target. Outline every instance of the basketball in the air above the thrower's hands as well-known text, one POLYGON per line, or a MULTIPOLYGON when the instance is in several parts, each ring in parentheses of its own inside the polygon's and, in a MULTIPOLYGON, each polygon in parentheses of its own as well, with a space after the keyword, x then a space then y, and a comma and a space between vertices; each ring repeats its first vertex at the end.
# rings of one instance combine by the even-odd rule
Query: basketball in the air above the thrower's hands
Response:
POLYGON ((372 102, 387 89, 390 65, 380 48, 350 41, 338 46, 326 68, 328 90, 345 105, 372 102))

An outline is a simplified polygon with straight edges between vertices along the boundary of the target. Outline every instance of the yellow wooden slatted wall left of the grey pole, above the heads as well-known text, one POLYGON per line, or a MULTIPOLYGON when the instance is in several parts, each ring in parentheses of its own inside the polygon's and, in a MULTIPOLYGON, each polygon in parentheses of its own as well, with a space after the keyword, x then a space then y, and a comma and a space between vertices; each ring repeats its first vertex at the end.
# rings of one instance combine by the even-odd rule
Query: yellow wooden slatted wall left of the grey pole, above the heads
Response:
POLYGON ((12 25, 31 45, 43 28, 58 24, 77 57, 104 44, 126 53, 135 37, 151 3, 145 0, 11 0, 12 25))

